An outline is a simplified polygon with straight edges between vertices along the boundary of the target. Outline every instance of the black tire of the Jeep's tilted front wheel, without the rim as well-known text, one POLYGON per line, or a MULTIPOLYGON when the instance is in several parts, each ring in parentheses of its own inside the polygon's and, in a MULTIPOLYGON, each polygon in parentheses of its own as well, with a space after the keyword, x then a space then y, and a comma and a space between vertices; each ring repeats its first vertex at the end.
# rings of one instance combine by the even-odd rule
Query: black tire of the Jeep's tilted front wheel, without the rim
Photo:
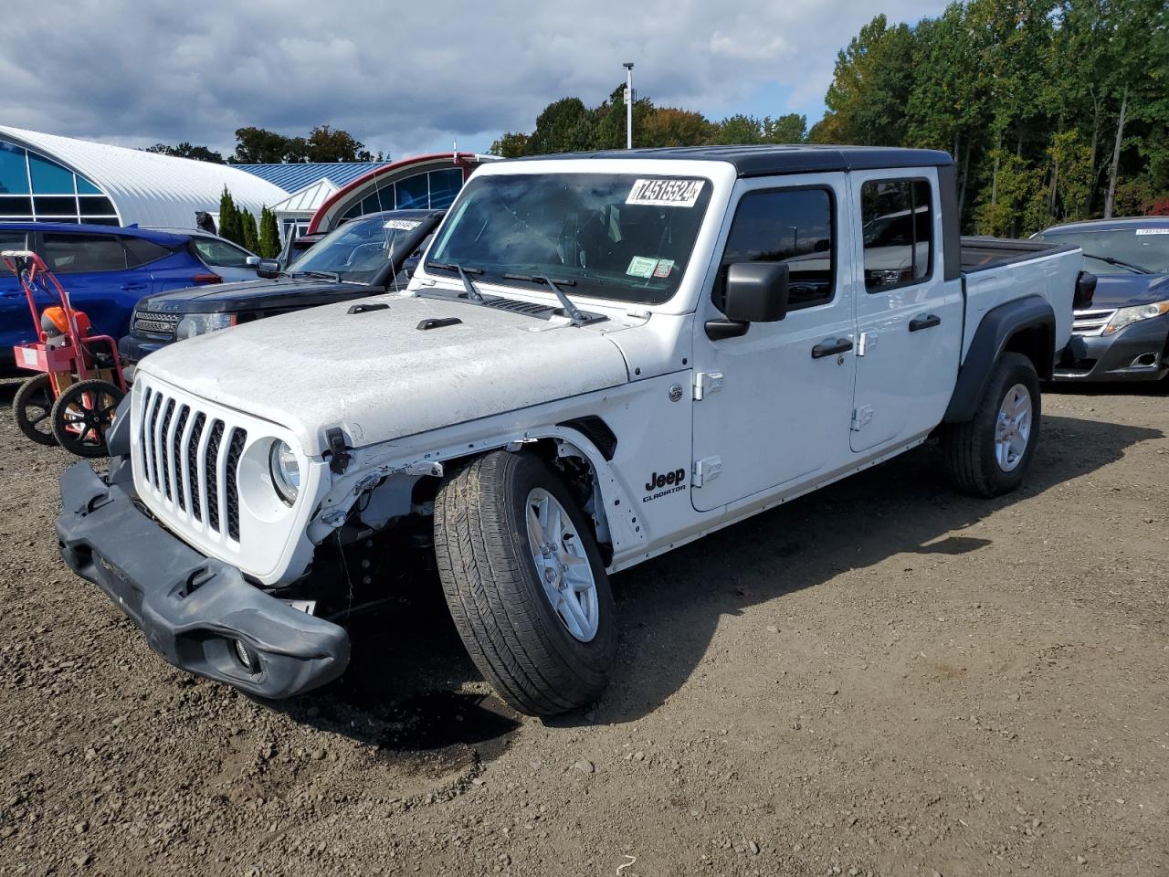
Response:
POLYGON ((533 454, 494 451, 443 483, 435 557, 447 605, 475 665, 519 712, 554 716, 596 700, 617 651, 616 610, 588 520, 533 454), (596 583, 596 634, 581 642, 553 608, 530 548, 527 502, 547 491, 567 511, 596 583))

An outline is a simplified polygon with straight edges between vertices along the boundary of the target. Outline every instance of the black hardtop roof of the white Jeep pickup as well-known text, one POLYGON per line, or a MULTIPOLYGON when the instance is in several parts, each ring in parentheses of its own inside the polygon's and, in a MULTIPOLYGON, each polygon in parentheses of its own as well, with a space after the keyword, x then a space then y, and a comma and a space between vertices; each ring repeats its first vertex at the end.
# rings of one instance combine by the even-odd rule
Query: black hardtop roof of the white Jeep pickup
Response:
POLYGON ((948 152, 906 150, 897 146, 779 145, 759 146, 665 146, 649 150, 604 150, 531 156, 513 161, 577 158, 648 158, 675 161, 727 161, 740 177, 772 177, 814 171, 869 171, 883 167, 948 167, 948 152))

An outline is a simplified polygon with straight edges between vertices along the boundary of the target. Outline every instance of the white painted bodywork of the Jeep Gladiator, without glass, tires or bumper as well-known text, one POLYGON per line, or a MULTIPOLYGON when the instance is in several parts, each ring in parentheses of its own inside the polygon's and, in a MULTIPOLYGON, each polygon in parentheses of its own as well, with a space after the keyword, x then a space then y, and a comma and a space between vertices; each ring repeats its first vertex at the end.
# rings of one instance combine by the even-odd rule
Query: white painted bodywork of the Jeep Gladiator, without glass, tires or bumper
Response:
MULTIPOLYGON (((1057 348, 1070 336, 1078 253, 976 271, 964 294, 961 279, 943 279, 941 243, 952 239, 933 167, 738 179, 732 164, 714 160, 563 159, 499 163, 476 178, 544 173, 708 180, 706 217, 676 294, 631 305, 567 290, 577 308, 608 318, 577 327, 426 295, 458 295, 463 285, 423 263, 406 294, 365 299, 383 310, 350 315, 348 304, 330 305, 172 345, 141 362, 145 382, 248 417, 249 442, 286 440, 318 481, 279 526, 263 530, 263 546, 247 538, 243 519, 238 544, 224 546, 158 497, 151 511, 199 551, 265 583, 289 581, 362 491, 408 497, 409 485, 440 474, 443 462, 554 438, 559 453, 588 461, 595 517, 613 547, 609 569, 621 569, 920 444, 941 421, 988 310, 1037 294, 1057 315, 1057 348), (873 295, 863 271, 859 186, 906 175, 929 180, 935 194, 932 276, 873 295), (735 203, 755 189, 798 186, 826 188, 836 202, 831 301, 712 341, 704 326, 721 313, 710 290, 735 203), (940 324, 911 333, 908 322, 922 315, 940 324), (443 317, 461 323, 416 327, 443 317), (852 346, 814 359, 810 350, 826 338, 852 346), (855 428, 864 408, 872 416, 855 428), (587 416, 616 436, 611 458, 565 426, 587 416), (344 474, 327 467, 325 433, 334 427, 350 455, 344 474)), ((476 283, 484 295, 558 304, 541 289, 476 283)))

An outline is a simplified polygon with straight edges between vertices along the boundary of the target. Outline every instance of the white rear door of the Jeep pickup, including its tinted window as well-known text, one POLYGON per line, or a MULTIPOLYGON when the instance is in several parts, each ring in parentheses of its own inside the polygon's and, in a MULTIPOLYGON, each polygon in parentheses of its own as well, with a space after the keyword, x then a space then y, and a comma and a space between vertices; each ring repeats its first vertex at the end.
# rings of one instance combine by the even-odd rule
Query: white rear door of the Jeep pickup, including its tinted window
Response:
POLYGON ((941 422, 957 375, 963 305, 961 279, 943 276, 936 170, 850 177, 859 275, 850 447, 860 453, 912 441, 941 422))

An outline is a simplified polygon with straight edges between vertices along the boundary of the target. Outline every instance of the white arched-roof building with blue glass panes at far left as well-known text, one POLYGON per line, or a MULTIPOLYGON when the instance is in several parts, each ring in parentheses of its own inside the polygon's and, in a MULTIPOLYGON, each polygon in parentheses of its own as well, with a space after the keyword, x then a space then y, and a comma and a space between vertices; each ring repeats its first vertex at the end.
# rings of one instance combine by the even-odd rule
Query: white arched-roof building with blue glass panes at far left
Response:
POLYGON ((257 219, 278 186, 230 165, 159 156, 0 125, 0 221, 192 228, 224 186, 257 219))

